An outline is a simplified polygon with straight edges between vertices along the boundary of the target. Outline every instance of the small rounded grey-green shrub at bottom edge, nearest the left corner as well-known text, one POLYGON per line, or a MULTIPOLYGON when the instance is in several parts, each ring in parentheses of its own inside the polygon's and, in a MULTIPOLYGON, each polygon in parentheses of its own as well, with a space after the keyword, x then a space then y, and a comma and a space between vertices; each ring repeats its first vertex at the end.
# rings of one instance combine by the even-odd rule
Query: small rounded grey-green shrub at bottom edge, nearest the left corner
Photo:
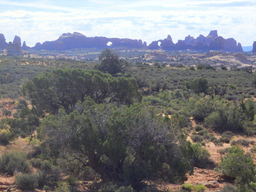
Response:
POLYGON ((38 186, 37 177, 29 174, 18 175, 15 179, 15 184, 23 190, 34 190, 38 186))

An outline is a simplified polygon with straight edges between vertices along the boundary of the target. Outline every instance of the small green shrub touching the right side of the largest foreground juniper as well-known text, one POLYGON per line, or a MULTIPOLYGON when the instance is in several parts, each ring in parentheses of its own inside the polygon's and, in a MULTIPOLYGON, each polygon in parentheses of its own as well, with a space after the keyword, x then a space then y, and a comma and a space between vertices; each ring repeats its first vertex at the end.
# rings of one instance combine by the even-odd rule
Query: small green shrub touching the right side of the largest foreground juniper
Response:
POLYGON ((194 155, 193 155, 193 165, 199 168, 204 168, 210 161, 210 153, 203 148, 199 143, 192 145, 194 155))

